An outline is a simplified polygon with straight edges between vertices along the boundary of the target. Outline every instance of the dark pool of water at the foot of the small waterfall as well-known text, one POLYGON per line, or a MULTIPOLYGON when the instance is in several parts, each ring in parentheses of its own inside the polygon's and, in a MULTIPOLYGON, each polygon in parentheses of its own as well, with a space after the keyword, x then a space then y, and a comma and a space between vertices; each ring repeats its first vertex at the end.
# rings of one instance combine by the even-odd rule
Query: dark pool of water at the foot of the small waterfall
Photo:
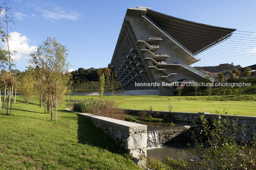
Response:
POLYGON ((161 147, 157 148, 148 148, 147 156, 160 160, 167 160, 167 157, 175 160, 180 158, 183 160, 192 160, 194 157, 197 157, 197 154, 193 149, 188 148, 187 146, 162 145, 161 147))

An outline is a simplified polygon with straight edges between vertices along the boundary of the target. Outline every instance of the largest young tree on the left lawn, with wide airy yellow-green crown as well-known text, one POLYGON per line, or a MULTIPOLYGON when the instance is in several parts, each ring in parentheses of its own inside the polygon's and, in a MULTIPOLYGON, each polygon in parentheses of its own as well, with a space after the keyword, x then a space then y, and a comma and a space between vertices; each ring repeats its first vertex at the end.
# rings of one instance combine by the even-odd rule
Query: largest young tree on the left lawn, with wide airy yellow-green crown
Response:
MULTIPOLYGON (((57 121, 57 104, 64 100, 67 90, 67 83, 70 78, 68 73, 69 63, 66 61, 67 49, 55 38, 48 37, 42 45, 37 47, 36 52, 30 54, 30 65, 38 68, 42 82, 43 97, 47 113, 54 109, 54 120, 57 121)), ((52 118, 52 116, 51 116, 52 118)))

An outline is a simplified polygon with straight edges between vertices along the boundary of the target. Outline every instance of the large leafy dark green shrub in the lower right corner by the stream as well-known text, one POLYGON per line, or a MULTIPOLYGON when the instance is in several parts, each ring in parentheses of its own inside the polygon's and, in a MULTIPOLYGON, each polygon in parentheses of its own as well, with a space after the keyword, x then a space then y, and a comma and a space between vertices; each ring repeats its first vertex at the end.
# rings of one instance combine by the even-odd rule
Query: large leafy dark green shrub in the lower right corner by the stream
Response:
MULTIPOLYGON (((224 113, 227 114, 225 110, 224 113)), ((238 119, 229 121, 226 117, 218 116, 213 126, 203 115, 200 119, 202 126, 193 132, 196 136, 194 147, 199 153, 199 163, 204 169, 256 169, 255 140, 250 145, 236 142, 238 128, 243 128, 238 127, 238 119)))

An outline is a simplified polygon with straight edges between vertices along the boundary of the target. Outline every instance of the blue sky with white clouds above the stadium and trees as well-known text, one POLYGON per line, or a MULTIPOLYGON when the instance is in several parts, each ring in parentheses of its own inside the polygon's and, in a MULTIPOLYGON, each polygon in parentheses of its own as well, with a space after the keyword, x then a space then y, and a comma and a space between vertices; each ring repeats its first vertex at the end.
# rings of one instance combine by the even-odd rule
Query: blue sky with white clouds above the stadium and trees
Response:
MULTIPOLYGON (((69 50, 70 69, 107 67, 128 7, 146 6, 195 22, 256 32, 256 0, 11 0, 16 68, 47 37, 69 50)), ((5 46, 2 44, 2 46, 5 46)))

